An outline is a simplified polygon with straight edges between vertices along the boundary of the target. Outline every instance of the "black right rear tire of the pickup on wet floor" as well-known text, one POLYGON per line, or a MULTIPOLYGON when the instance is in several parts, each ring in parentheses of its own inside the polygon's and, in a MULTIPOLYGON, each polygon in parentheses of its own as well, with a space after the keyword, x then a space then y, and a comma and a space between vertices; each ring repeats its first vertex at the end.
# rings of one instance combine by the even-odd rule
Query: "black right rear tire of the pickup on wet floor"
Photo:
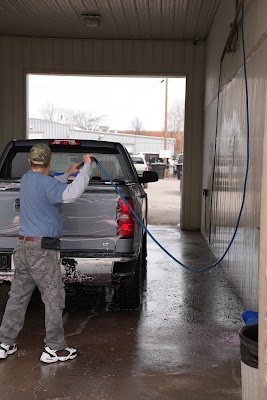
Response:
POLYGON ((116 306, 123 310, 138 310, 142 301, 142 250, 135 265, 134 274, 125 279, 118 289, 114 289, 116 306))

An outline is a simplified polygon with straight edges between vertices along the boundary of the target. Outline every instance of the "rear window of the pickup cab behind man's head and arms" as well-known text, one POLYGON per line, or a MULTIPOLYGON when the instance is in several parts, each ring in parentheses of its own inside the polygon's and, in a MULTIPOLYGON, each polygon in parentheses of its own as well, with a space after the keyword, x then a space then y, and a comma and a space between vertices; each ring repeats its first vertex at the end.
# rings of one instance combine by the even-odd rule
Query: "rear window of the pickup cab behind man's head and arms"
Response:
MULTIPOLYGON (((1 171, 1 178, 8 179, 19 179, 30 169, 28 162, 29 150, 23 148, 13 148, 11 154, 8 155, 4 168, 1 171)), ((105 154, 105 153, 94 153, 87 149, 79 148, 79 151, 53 151, 52 150, 52 164, 50 168, 50 175, 59 175, 64 173, 71 164, 81 163, 83 161, 83 155, 86 153, 92 153, 94 157, 100 162, 102 167, 107 171, 113 180, 129 180, 127 171, 123 168, 123 163, 119 153, 116 154, 105 154)), ((74 149, 73 149, 74 150, 74 149)), ((91 179, 107 180, 106 176, 97 164, 94 164, 91 179)))

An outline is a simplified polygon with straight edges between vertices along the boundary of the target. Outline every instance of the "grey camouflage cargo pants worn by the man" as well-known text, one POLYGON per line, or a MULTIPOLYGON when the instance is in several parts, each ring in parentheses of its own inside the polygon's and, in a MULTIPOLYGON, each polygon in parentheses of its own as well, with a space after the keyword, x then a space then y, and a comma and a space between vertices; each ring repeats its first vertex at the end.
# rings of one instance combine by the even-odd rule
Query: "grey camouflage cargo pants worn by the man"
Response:
POLYGON ((28 303, 35 286, 45 305, 45 343, 53 350, 66 348, 62 312, 65 289, 61 278, 60 254, 41 244, 19 240, 13 253, 15 275, 0 327, 0 343, 12 345, 23 327, 28 303))

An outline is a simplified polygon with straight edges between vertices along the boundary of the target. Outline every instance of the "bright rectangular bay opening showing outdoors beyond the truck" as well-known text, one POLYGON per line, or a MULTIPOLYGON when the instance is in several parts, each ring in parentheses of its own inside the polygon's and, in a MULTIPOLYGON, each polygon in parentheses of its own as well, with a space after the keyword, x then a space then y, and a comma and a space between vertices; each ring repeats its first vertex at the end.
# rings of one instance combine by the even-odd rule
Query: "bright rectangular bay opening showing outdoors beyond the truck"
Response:
POLYGON ((148 224, 179 227, 184 148, 184 77, 27 75, 28 139, 119 142, 144 183, 148 224))

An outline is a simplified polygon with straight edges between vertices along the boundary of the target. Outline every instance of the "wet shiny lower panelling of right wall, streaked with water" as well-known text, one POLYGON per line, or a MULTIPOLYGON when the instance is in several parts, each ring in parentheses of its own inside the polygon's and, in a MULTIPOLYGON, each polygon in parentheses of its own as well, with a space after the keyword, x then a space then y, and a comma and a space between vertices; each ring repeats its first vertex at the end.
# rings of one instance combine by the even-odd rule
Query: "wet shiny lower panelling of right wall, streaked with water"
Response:
MULTIPOLYGON (((262 49, 263 50, 263 49, 262 49)), ((267 43, 265 66, 267 65, 267 43)), ((264 64, 263 64, 264 65, 264 64)), ((263 65, 260 67, 262 71, 263 65)), ((256 88, 258 57, 248 63, 250 93, 250 168, 246 202, 236 239, 223 265, 244 304, 258 308, 258 249, 260 228, 260 177, 262 174, 262 139, 264 130, 265 87, 256 88), (255 90, 257 89, 257 90, 255 90)), ((267 78, 267 75, 266 75, 267 78)), ((265 79, 266 79, 265 78, 265 79)), ((243 71, 224 89, 220 97, 217 137, 215 187, 213 192, 211 245, 219 257, 233 235, 241 207, 246 170, 246 115, 243 71), (233 159, 230 158, 234 139, 233 159), (222 166, 217 160, 228 157, 222 166), (231 164, 233 161, 233 164, 231 164)))

